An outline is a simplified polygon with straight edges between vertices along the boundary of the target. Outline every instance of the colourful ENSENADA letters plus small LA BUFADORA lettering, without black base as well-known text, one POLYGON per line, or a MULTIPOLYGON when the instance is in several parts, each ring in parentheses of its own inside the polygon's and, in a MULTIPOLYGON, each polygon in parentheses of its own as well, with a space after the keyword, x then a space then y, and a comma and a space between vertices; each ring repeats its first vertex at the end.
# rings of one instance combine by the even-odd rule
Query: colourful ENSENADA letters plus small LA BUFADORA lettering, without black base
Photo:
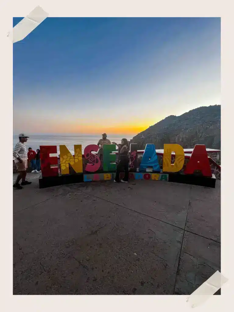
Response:
MULTIPOLYGON (((88 163, 83 165, 82 160, 82 146, 81 144, 74 145, 74 156, 67 149, 66 145, 60 145, 60 168, 61 175, 69 174, 83 174, 84 180, 95 181, 95 180, 110 180, 113 179, 113 174, 116 170, 116 152, 113 144, 105 144, 103 146, 103 173, 96 173, 100 169, 101 161, 97 154, 92 152, 98 152, 99 146, 91 144, 85 147, 84 157, 88 163), (70 169, 73 170, 70 170, 70 169), (72 172, 71 172, 72 171, 72 172), (89 174, 90 173, 90 174, 89 174)), ((58 171, 58 158, 50 157, 50 154, 57 153, 56 145, 40 146, 41 150, 41 172, 43 177, 56 177, 59 175, 58 171)), ((158 162, 158 156, 155 151, 154 144, 146 144, 144 154, 139 165, 139 172, 137 171, 137 144, 130 144, 130 155, 134 155, 132 161, 132 169, 134 179, 151 179, 157 180, 154 173, 160 173, 160 179, 167 173, 178 173, 184 165, 184 150, 179 144, 164 144, 163 151, 163 169, 160 170, 158 162), (172 154, 174 153, 174 155, 172 154), (171 159, 174 156, 174 163, 171 159), (152 168, 152 173, 147 173, 146 169, 152 168), (145 173, 142 175, 142 173, 145 173), (163 174, 164 173, 164 174, 163 174)), ((195 145, 191 157, 183 170, 183 174, 191 175, 194 172, 199 171, 204 177, 212 177, 212 172, 209 164, 209 159, 205 145, 195 145)), ((159 176, 158 176, 159 177, 159 176)))

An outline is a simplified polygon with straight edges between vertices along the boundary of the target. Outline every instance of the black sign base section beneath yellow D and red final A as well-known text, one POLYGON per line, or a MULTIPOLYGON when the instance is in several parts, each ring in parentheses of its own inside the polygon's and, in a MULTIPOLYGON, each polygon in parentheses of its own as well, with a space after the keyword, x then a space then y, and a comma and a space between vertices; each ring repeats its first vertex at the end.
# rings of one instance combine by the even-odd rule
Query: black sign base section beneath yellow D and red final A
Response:
POLYGON ((193 174, 169 173, 168 182, 177 182, 184 184, 206 186, 208 188, 215 188, 216 178, 214 174, 212 175, 212 178, 209 178, 203 176, 196 176, 193 174))

